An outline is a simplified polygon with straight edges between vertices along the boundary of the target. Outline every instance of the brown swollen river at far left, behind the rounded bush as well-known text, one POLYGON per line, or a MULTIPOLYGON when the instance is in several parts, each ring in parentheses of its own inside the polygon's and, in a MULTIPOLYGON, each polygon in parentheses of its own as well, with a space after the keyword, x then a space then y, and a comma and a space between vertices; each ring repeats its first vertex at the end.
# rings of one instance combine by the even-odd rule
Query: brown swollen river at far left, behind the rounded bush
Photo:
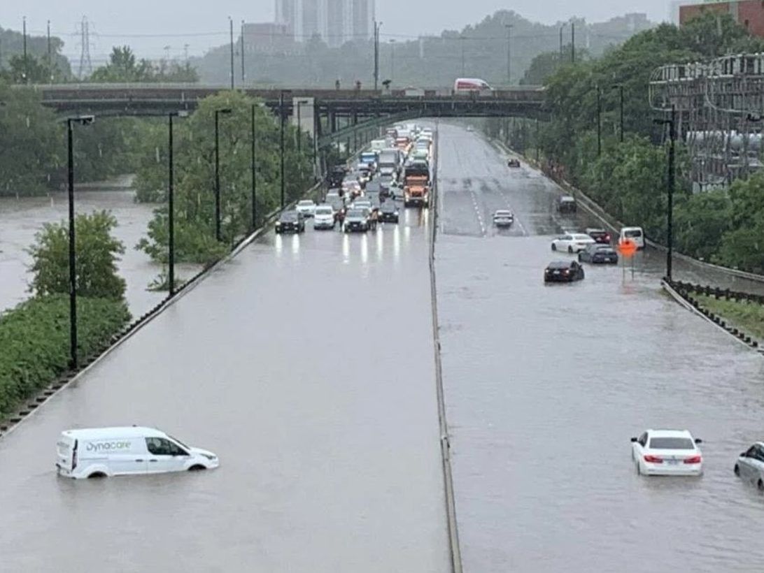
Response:
MULTIPOLYGON (((136 203, 134 196, 132 190, 78 191, 74 204, 78 213, 106 210, 117 218, 114 236, 125 244, 125 254, 118 262, 119 274, 127 282, 125 298, 130 311, 140 316, 167 293, 147 291, 148 284, 159 275, 160 266, 134 246, 146 235, 154 206, 136 203)), ((65 193, 51 197, 0 198, 0 312, 29 297, 31 275, 27 269, 31 256, 27 249, 44 224, 65 220, 67 210, 65 193)), ((187 278, 195 272, 195 266, 183 266, 178 274, 187 278)))

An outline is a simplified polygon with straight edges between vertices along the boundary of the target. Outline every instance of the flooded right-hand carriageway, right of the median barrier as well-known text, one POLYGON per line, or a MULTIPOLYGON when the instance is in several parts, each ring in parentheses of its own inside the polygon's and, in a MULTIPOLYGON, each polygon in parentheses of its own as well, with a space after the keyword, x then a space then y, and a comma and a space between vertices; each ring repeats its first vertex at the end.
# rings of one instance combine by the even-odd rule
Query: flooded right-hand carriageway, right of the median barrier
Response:
MULTIPOLYGON (((664 256, 545 286, 583 215, 442 124, 436 246, 445 400, 465 571, 761 571, 764 498, 732 472, 764 438, 764 359, 669 300, 664 256), (490 214, 512 208, 512 230, 490 214), (700 479, 642 478, 630 436, 688 428, 700 479)), ((691 268, 676 274, 694 279, 691 268)), ((703 281, 705 282, 705 281, 703 281)))

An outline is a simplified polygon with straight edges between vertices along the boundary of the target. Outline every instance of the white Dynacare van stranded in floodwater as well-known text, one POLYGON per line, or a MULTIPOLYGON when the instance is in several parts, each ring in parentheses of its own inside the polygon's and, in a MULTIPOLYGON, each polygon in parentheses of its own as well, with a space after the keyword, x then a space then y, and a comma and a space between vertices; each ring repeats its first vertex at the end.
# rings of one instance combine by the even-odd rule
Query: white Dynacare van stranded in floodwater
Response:
POLYGON ((56 467, 66 478, 185 472, 219 465, 212 452, 186 446, 154 428, 66 430, 57 443, 56 467))

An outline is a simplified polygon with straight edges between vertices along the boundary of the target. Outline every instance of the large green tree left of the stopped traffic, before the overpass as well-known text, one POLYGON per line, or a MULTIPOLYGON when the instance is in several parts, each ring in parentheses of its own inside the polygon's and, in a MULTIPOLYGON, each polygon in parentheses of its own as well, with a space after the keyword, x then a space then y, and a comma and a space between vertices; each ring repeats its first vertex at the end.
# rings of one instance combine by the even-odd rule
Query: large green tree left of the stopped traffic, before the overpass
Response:
MULTIPOLYGON (((251 108, 257 133, 257 213, 280 205, 280 137, 273 114, 241 92, 221 92, 199 103, 188 118, 176 121, 174 163, 176 260, 207 263, 251 226, 251 108), (220 189, 222 243, 215 240, 215 110, 220 117, 220 189)), ((286 127, 286 201, 312 185, 312 145, 303 134, 301 153, 296 129, 286 127)), ((144 200, 164 201, 167 189, 167 128, 157 128, 144 144, 136 186, 144 200)), ((157 208, 148 236, 138 243, 157 261, 167 259, 167 207, 157 208)))

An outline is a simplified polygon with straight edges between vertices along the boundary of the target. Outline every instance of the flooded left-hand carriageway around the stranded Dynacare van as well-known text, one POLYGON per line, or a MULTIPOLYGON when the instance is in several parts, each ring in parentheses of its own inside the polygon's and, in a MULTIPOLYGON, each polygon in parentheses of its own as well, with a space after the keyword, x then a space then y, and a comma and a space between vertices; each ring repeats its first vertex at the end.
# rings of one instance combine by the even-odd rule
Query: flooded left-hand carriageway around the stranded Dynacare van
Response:
POLYGON ((268 234, 0 440, 0 570, 445 571, 426 228, 268 234), (222 465, 56 477, 131 423, 222 465))

